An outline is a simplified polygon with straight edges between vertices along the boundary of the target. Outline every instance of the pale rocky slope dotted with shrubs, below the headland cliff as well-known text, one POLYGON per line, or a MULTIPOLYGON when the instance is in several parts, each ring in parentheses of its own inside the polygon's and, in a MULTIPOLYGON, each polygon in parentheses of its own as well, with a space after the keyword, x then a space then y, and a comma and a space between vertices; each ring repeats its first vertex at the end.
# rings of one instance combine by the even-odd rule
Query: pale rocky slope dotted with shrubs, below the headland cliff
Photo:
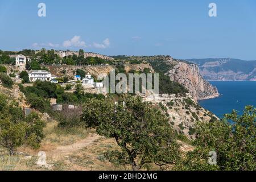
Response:
POLYGON ((170 125, 177 134, 195 138, 196 122, 209 122, 218 119, 193 100, 190 94, 177 97, 175 94, 150 95, 144 101, 159 105, 169 117, 170 125))

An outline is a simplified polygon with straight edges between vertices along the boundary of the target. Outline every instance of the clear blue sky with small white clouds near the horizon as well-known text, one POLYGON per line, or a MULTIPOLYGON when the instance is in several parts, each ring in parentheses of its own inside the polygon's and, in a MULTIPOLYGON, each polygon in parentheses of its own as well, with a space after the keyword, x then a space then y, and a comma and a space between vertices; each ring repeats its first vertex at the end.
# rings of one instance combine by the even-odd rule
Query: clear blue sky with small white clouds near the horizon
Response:
POLYGON ((256 1, 1 0, 0 49, 41 47, 256 60, 256 1), (217 17, 208 15, 211 2, 217 17))

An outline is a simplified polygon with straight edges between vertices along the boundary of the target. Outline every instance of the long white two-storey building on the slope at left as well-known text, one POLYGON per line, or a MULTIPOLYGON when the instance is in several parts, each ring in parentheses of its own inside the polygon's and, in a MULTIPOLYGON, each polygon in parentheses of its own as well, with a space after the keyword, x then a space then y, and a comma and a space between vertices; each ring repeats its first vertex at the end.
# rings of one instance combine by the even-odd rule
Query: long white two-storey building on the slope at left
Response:
POLYGON ((50 72, 45 70, 31 70, 28 72, 28 77, 30 78, 31 82, 34 82, 36 80, 52 81, 57 78, 57 76, 52 75, 50 72))

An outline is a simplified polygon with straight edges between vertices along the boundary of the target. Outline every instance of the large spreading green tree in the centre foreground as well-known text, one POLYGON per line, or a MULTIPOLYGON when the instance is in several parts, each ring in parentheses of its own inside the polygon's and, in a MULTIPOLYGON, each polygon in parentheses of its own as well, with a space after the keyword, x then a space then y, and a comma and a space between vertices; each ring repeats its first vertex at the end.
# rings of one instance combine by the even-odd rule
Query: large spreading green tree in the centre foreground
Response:
POLYGON ((110 162, 130 164, 139 170, 146 164, 162 167, 180 158, 179 145, 166 116, 140 97, 124 98, 125 105, 110 100, 90 100, 84 105, 81 122, 99 135, 114 138, 120 150, 105 153, 110 162))

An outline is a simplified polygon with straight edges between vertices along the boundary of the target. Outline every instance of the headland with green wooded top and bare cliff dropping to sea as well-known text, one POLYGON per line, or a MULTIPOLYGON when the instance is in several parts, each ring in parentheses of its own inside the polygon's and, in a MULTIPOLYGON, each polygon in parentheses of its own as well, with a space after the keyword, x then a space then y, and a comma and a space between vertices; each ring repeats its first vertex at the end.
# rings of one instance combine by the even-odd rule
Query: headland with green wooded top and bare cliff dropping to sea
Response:
POLYGON ((216 87, 206 81, 199 72, 196 64, 187 61, 176 60, 171 56, 112 56, 121 60, 139 60, 150 63, 152 68, 168 76, 171 81, 178 82, 186 88, 194 100, 205 100, 218 97, 216 87))

